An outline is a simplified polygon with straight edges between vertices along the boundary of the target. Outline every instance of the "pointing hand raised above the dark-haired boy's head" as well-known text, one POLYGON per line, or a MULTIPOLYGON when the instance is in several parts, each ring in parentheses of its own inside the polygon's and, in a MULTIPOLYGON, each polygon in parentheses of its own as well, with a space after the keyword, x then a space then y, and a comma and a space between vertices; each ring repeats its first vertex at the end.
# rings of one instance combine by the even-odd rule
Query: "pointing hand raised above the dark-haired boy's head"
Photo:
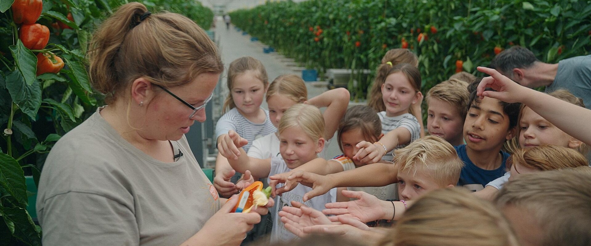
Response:
POLYGON ((520 86, 515 81, 502 75, 499 71, 496 71, 488 67, 478 67, 478 71, 489 74, 491 77, 482 78, 476 94, 482 99, 483 97, 492 97, 507 103, 515 103, 519 101, 519 98, 524 96, 524 90, 526 87, 520 86), (485 91, 485 88, 492 88, 496 91, 485 91))

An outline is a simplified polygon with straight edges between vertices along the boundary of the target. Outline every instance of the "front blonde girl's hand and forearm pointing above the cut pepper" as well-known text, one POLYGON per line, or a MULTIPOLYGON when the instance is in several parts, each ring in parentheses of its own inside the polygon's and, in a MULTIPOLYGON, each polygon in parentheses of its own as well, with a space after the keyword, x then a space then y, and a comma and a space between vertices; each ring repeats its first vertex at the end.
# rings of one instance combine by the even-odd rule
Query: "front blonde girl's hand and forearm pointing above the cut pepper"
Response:
POLYGON ((228 159, 230 166, 237 172, 244 173, 250 170, 252 176, 256 178, 264 178, 269 176, 271 172, 271 159, 257 159, 246 155, 242 146, 246 145, 248 141, 243 139, 238 133, 230 130, 219 143, 218 147, 220 154, 228 159), (238 150, 236 155, 235 150, 238 150))

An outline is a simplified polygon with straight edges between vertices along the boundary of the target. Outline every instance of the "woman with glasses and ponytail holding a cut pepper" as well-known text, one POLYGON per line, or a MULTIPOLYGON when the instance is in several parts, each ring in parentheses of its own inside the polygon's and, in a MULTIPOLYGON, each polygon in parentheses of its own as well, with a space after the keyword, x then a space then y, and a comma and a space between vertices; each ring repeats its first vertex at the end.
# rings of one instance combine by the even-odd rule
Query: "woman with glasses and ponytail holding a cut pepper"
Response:
POLYGON ((134 2, 103 22, 89 50, 108 105, 47 157, 43 244, 239 245, 267 208, 230 213, 238 199, 217 196, 184 136, 206 119, 222 73, 215 44, 190 19, 134 2))

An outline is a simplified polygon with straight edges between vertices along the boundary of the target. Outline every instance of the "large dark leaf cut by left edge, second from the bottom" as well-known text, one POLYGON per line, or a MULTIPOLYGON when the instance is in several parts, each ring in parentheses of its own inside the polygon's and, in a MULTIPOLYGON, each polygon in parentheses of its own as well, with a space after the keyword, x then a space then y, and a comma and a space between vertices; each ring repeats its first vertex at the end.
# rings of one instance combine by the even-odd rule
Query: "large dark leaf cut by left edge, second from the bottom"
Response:
POLYGON ((25 173, 17 160, 5 153, 0 153, 0 186, 18 201, 22 207, 27 206, 27 185, 25 173))

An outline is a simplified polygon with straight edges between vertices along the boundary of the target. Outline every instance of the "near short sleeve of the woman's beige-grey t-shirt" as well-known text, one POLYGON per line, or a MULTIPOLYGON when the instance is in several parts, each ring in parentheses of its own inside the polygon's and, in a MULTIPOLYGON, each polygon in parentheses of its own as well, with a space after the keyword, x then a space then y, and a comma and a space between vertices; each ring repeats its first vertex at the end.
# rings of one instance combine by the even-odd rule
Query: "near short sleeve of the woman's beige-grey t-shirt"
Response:
POLYGON ((102 195, 67 192, 48 198, 43 245, 139 245, 134 213, 102 195))

